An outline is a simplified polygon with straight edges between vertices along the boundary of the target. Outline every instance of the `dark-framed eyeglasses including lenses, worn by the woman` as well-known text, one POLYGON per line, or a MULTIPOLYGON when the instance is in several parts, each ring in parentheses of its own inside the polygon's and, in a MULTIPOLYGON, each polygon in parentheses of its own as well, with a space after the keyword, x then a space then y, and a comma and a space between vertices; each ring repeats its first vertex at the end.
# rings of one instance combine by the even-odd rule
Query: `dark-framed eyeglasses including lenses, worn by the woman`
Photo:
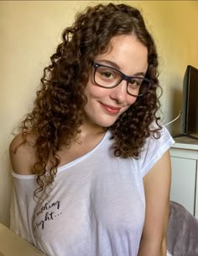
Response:
POLYGON ((134 97, 143 96, 147 93, 154 82, 144 77, 128 77, 114 67, 109 67, 96 62, 93 62, 94 74, 93 80, 96 85, 102 88, 114 88, 122 80, 127 81, 127 92, 134 97))

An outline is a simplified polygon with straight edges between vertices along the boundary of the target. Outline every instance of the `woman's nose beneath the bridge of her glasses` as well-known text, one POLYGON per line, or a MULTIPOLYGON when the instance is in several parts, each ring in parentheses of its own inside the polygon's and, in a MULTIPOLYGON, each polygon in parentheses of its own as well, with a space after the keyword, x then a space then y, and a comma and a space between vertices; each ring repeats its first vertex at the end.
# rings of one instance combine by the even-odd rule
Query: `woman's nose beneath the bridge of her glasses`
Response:
POLYGON ((122 80, 116 87, 112 88, 110 93, 110 98, 116 100, 117 103, 122 103, 127 100, 127 81, 122 80))

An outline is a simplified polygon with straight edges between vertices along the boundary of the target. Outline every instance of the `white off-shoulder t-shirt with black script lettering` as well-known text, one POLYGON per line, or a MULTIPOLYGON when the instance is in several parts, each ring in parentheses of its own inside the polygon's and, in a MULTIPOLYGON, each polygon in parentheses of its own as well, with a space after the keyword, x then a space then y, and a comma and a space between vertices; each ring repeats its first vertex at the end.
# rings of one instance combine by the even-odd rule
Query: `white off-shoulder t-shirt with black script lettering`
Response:
POLYGON ((91 152, 58 168, 43 201, 34 201, 34 175, 13 173, 11 228, 50 256, 137 256, 143 176, 174 141, 163 128, 136 160, 114 157, 110 137, 107 131, 91 152))

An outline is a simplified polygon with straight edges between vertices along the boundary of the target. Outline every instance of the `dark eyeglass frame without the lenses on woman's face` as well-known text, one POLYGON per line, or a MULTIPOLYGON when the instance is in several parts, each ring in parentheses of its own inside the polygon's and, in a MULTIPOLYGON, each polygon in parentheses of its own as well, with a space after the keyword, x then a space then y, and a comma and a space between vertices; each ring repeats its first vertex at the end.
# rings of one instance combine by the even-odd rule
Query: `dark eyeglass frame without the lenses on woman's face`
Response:
MULTIPOLYGON (((112 87, 106 87, 106 86, 102 86, 101 84, 96 83, 96 85, 98 85, 98 86, 100 86, 102 88, 115 88, 115 87, 117 87, 117 85, 119 83, 121 83, 123 80, 125 80, 125 81, 127 81, 127 93, 128 93, 128 83, 130 83, 131 79, 133 79, 133 78, 141 78, 141 79, 143 79, 143 81, 148 82, 148 88, 145 90, 145 92, 143 92, 141 94, 138 94, 138 95, 134 95, 132 93, 128 93, 129 95, 131 95, 133 97, 141 97, 141 96, 143 96, 145 93, 148 92, 148 89, 154 84, 154 81, 152 81, 152 80, 150 80, 148 78, 138 77, 138 76, 130 77, 130 76, 125 75, 124 73, 122 73, 120 70, 118 70, 115 67, 110 67, 110 66, 107 66, 107 65, 103 65, 103 64, 100 64, 100 63, 96 63, 94 61, 92 61, 92 67, 94 68, 94 74, 93 74, 94 83, 96 83, 95 76, 96 76, 96 70, 97 70, 98 67, 108 67, 108 68, 111 68, 112 70, 115 70, 116 72, 120 73, 120 75, 121 75, 121 79, 115 85, 113 85, 112 87)), ((141 88, 141 85, 140 85, 140 88, 141 88)))

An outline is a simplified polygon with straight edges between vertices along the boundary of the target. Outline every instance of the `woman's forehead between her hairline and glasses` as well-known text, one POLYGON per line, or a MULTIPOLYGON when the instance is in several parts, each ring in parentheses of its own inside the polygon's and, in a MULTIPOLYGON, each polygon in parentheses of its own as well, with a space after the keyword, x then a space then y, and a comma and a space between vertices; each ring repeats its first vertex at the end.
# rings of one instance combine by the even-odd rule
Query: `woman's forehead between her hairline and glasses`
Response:
POLYGON ((146 72, 148 68, 148 49, 135 35, 117 35, 112 37, 107 51, 96 56, 95 61, 116 63, 117 67, 128 75, 146 72))

